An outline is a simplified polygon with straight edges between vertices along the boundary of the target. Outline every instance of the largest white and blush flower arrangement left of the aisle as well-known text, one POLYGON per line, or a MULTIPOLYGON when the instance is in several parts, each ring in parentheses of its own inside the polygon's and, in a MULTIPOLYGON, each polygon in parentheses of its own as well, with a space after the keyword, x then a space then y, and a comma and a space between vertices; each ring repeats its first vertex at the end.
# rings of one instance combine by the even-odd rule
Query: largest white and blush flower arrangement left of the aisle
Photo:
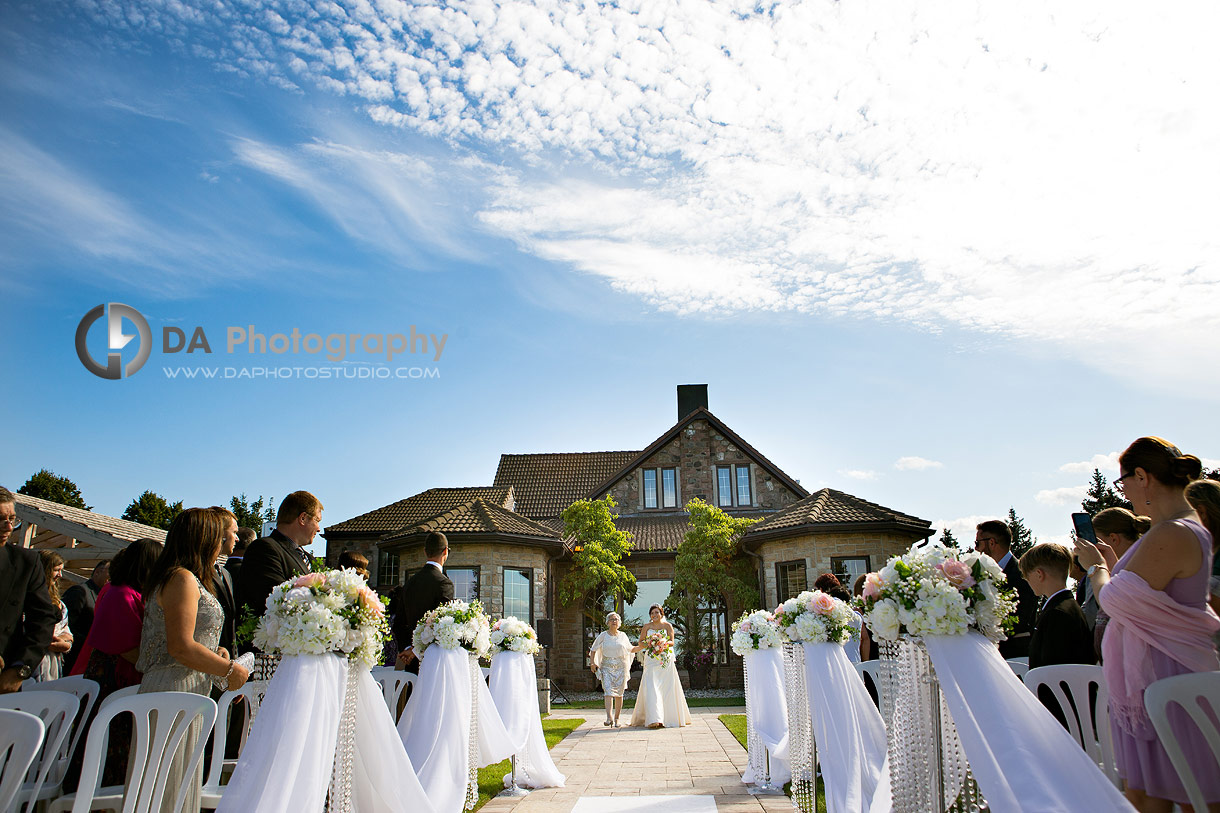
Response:
POLYGON ((325 570, 276 585, 254 645, 283 656, 334 652, 366 668, 389 638, 386 607, 355 570, 325 570))

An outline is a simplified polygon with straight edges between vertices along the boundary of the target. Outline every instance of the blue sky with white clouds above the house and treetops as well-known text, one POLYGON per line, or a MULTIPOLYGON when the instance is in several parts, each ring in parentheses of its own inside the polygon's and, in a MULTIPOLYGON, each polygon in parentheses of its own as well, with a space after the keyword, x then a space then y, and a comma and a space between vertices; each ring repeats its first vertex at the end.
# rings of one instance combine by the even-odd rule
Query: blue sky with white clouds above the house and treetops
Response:
POLYGON ((329 524, 643 448, 705 382, 810 490, 1063 537, 1141 435, 1220 459, 1216 13, 6 4, 0 482, 329 524), (73 348, 105 302, 156 339, 122 381, 73 348), (427 380, 166 375, 265 365, 224 352, 249 325, 448 339, 343 365, 427 380))

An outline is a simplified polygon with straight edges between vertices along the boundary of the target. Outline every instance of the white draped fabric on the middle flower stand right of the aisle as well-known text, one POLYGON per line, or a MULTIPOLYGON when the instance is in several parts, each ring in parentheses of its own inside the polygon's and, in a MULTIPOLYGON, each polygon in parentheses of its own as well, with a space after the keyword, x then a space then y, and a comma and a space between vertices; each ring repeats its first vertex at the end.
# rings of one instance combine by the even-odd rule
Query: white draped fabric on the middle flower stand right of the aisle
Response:
MULTIPOLYGON (((839 643, 803 643, 805 692, 830 813, 888 811, 886 725, 839 643)), ((753 674, 750 675, 753 679, 753 674)))

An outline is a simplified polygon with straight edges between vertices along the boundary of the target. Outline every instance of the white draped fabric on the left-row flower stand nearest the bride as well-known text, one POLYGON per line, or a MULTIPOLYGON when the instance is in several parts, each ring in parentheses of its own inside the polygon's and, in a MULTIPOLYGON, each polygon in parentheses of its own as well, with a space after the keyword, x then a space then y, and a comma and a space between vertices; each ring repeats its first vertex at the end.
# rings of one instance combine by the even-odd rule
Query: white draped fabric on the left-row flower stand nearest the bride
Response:
POLYGON ((492 658, 492 699, 517 756, 517 782, 523 787, 562 787, 564 774, 555 768, 542 732, 533 656, 498 652, 492 658))

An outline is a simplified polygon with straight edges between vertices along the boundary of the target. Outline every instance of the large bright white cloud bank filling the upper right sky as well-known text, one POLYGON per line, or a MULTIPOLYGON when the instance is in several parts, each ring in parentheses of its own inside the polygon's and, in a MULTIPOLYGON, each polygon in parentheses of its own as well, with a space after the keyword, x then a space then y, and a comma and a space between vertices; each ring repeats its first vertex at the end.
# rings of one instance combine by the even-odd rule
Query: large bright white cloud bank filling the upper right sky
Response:
POLYGON ((90 7, 521 165, 483 222, 659 309, 955 325, 1146 377, 1220 327, 1216 5, 134 6, 90 7))

